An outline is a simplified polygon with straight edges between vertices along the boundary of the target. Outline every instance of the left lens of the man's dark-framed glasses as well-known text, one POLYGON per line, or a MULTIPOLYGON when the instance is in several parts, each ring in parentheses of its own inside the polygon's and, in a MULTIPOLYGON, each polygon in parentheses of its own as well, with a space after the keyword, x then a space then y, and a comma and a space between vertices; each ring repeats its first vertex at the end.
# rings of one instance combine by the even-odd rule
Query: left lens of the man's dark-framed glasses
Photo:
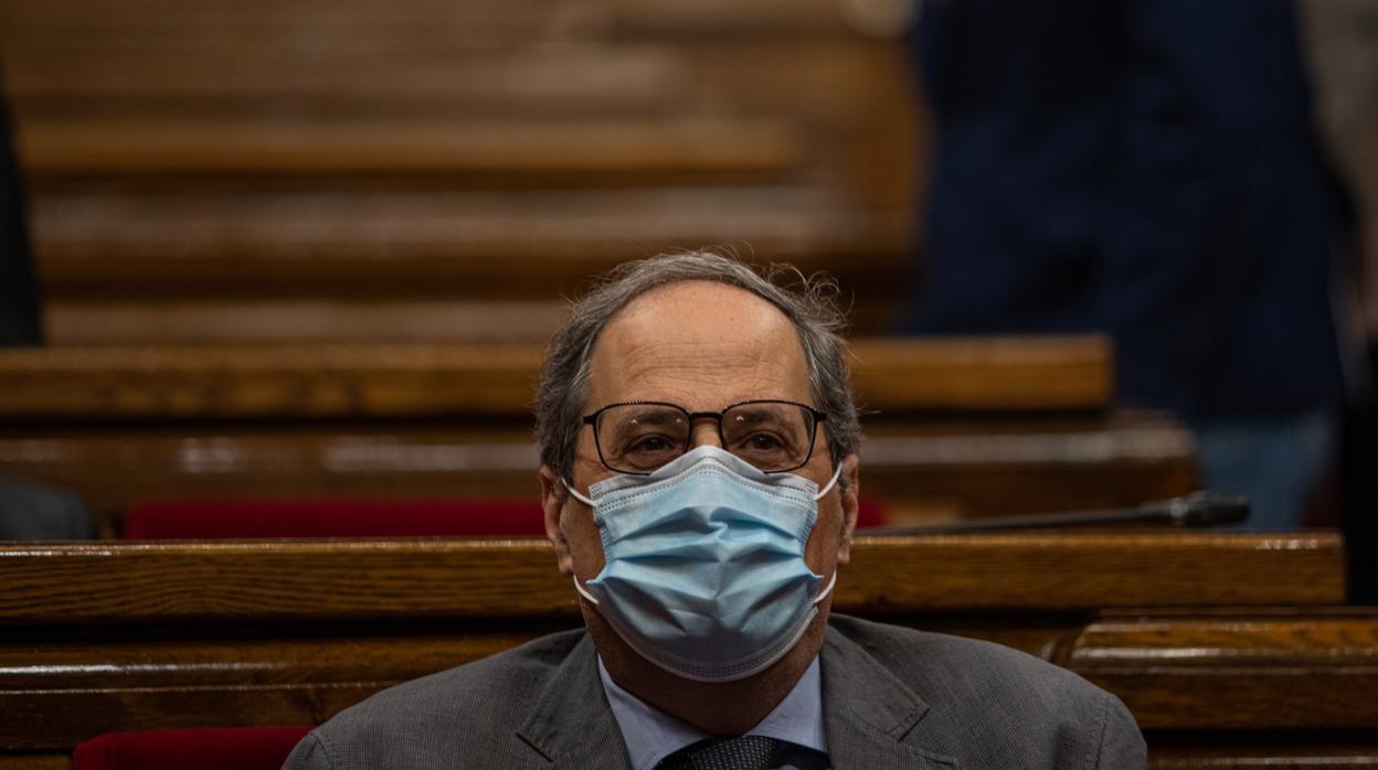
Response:
POLYGON ((608 467, 649 472, 683 453, 689 415, 675 406, 623 404, 598 417, 598 450, 608 467))

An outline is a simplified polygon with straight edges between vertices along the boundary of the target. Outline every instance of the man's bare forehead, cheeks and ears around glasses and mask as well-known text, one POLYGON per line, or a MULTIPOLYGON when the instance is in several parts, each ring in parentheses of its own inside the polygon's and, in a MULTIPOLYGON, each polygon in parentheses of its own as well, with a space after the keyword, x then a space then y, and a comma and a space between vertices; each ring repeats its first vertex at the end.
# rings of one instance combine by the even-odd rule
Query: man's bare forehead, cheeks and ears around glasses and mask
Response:
MULTIPOLYGON (((681 282, 648 292, 627 304, 598 337, 586 413, 608 404, 661 401, 690 412, 719 412, 750 399, 814 404, 803 348, 794 325, 755 295, 711 282, 681 282)), ((719 445, 712 420, 693 427, 693 445, 719 445)), ((820 488, 832 477, 827 433, 820 426, 809 463, 794 471, 820 488)), ((819 518, 805 562, 824 577, 845 563, 856 525, 856 457, 843 463, 846 488, 834 486, 819 501, 819 518)), ((613 475, 598 459, 593 428, 580 430, 570 482, 588 485, 613 475)), ((561 572, 580 583, 604 568, 593 511, 564 493, 558 475, 542 470, 547 533, 561 572)), ((827 606, 820 606, 825 616, 827 606)), ((590 627, 599 618, 586 606, 590 627)), ((597 641, 598 634, 595 634, 597 641)))

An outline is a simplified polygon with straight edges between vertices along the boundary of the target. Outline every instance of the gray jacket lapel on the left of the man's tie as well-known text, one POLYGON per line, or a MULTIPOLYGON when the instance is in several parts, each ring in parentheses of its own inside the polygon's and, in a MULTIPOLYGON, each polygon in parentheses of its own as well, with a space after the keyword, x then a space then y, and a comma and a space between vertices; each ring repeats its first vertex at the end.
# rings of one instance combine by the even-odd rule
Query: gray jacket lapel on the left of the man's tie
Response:
MULTIPOLYGON (((631 770, 587 634, 546 685, 517 734, 551 767, 631 770)), ((539 767, 542 763, 532 764, 539 767)))

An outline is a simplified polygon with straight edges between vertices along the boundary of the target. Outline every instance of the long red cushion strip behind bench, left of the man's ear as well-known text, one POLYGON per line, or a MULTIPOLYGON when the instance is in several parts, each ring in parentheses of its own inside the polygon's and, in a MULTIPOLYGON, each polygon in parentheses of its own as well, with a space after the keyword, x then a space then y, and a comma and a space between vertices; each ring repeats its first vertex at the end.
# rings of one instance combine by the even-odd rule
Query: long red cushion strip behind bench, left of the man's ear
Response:
POLYGON ((131 539, 544 533, 535 500, 163 500, 136 504, 124 519, 131 539))

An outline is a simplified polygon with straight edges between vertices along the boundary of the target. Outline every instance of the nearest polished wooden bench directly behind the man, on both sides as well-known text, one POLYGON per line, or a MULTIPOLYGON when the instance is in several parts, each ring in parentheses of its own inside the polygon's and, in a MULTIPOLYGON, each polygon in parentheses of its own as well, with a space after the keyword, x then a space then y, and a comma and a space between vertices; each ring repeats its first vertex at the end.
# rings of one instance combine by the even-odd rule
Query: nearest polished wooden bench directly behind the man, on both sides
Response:
MULTIPOLYGON (((6 544, 0 584, 0 767, 109 730, 318 723, 579 623, 540 541, 6 544)), ((1333 534, 871 537, 836 591, 1108 687, 1153 767, 1378 766, 1378 613, 1341 606, 1333 534)))

